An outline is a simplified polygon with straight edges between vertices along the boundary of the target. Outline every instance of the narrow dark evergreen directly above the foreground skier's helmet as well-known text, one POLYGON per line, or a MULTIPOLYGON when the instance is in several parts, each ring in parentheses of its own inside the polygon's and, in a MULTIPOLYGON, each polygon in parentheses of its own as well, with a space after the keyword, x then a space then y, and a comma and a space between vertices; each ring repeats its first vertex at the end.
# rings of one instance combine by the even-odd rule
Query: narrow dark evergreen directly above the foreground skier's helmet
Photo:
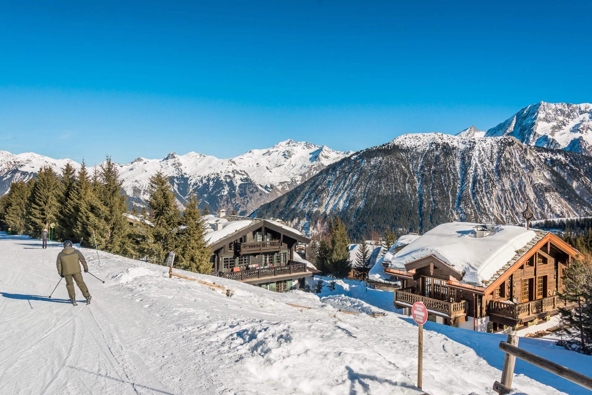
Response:
POLYGON ((78 215, 73 215, 68 205, 72 201, 72 195, 76 189, 76 169, 70 163, 66 163, 66 166, 62 169, 62 178, 59 183, 59 192, 57 194, 57 227, 56 227, 56 239, 73 239, 74 238, 74 226, 78 221, 78 215))

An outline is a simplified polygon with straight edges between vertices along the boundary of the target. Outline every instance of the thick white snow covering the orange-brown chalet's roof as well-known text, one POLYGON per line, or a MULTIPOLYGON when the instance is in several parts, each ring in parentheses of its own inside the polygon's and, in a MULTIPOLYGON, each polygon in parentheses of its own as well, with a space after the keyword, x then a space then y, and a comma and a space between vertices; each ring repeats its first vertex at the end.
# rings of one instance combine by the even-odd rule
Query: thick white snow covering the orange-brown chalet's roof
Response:
POLYGON ((482 285, 537 236, 532 229, 498 225, 498 230, 476 238, 472 222, 449 222, 438 225, 408 244, 390 258, 388 267, 405 270, 405 264, 435 255, 456 271, 465 273, 462 282, 482 285))

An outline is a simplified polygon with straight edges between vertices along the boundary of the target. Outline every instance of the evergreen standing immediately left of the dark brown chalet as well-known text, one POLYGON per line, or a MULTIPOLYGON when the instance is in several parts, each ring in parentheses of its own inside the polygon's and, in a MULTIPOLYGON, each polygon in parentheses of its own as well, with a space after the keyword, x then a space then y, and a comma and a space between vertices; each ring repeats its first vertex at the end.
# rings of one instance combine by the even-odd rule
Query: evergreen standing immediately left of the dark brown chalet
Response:
POLYGON ((178 233, 176 266, 184 270, 210 274, 211 251, 204 241, 205 222, 198 209, 199 203, 196 196, 191 196, 185 207, 181 219, 182 230, 178 233))

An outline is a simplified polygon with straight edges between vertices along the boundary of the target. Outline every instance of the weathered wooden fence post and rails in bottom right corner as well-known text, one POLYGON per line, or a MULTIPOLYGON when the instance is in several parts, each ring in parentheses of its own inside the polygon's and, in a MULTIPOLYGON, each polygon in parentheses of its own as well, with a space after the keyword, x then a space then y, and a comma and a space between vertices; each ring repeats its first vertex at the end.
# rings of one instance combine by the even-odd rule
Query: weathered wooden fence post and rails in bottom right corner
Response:
POLYGON ((508 342, 500 342, 499 345, 500 350, 506 353, 506 358, 504 358, 504 367, 501 371, 501 383, 496 381, 493 386, 493 389, 497 391, 498 394, 509 394, 513 390, 511 388, 511 378, 514 375, 516 358, 520 358, 529 364, 535 365, 536 367, 558 375, 559 377, 563 377, 565 380, 570 380, 572 383, 578 384, 578 386, 592 390, 592 378, 587 375, 556 364, 553 361, 546 360, 545 358, 532 354, 532 352, 518 348, 511 343, 517 344, 516 335, 508 335, 508 342))

